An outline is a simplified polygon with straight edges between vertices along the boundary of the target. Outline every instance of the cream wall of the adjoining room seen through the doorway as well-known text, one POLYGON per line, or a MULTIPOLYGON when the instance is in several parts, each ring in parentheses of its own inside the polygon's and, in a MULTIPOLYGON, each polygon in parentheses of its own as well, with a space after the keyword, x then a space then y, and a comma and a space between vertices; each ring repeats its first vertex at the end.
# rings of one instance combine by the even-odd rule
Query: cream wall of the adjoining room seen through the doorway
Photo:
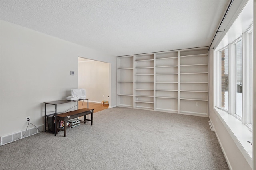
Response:
POLYGON ((108 67, 108 63, 100 61, 78 62, 78 88, 86 89, 86 98, 90 99, 89 102, 109 100, 108 67))

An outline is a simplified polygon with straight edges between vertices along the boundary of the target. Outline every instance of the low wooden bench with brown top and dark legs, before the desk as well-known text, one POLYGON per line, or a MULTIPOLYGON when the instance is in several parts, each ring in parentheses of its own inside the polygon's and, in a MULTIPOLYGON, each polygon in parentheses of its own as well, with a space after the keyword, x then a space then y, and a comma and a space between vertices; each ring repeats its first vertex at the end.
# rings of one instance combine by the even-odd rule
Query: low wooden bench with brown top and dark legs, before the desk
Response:
POLYGON ((56 127, 56 133, 58 134, 59 130, 64 131, 64 137, 66 137, 67 121, 70 120, 70 119, 81 117, 81 116, 84 116, 84 121, 81 121, 80 123, 82 123, 82 122, 89 123, 89 121, 91 121, 91 125, 92 125, 93 109, 84 108, 84 109, 78 109, 78 110, 69 111, 69 112, 66 112, 66 113, 57 114, 56 120, 59 123, 58 123, 58 126, 56 127), (86 115, 88 115, 87 119, 86 119, 86 115), (89 119, 89 115, 91 115, 91 119, 89 119), (60 128, 60 121, 64 122, 64 128, 60 128))

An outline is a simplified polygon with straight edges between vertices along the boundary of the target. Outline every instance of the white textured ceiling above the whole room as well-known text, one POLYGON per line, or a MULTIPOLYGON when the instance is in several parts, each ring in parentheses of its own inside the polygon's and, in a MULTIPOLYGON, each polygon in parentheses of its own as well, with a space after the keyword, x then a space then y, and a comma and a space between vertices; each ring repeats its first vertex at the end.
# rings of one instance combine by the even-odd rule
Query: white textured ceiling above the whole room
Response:
POLYGON ((229 0, 0 0, 0 19, 132 55, 209 46, 229 0))

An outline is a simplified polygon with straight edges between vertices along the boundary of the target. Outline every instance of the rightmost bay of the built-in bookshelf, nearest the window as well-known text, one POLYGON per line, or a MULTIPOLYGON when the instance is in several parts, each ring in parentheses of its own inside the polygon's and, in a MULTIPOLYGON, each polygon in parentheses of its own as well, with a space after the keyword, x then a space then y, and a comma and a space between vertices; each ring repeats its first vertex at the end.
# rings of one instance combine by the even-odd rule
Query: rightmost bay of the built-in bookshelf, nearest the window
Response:
POLYGON ((208 51, 180 51, 180 113, 208 115, 208 51))

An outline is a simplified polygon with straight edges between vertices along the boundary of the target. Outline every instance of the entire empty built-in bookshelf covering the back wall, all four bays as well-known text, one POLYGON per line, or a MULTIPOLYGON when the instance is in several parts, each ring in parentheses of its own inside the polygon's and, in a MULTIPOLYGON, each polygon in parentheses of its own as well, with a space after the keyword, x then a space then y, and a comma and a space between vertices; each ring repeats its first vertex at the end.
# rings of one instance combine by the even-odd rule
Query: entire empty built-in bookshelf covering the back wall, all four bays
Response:
POLYGON ((117 106, 208 117, 208 48, 117 57, 117 106))

